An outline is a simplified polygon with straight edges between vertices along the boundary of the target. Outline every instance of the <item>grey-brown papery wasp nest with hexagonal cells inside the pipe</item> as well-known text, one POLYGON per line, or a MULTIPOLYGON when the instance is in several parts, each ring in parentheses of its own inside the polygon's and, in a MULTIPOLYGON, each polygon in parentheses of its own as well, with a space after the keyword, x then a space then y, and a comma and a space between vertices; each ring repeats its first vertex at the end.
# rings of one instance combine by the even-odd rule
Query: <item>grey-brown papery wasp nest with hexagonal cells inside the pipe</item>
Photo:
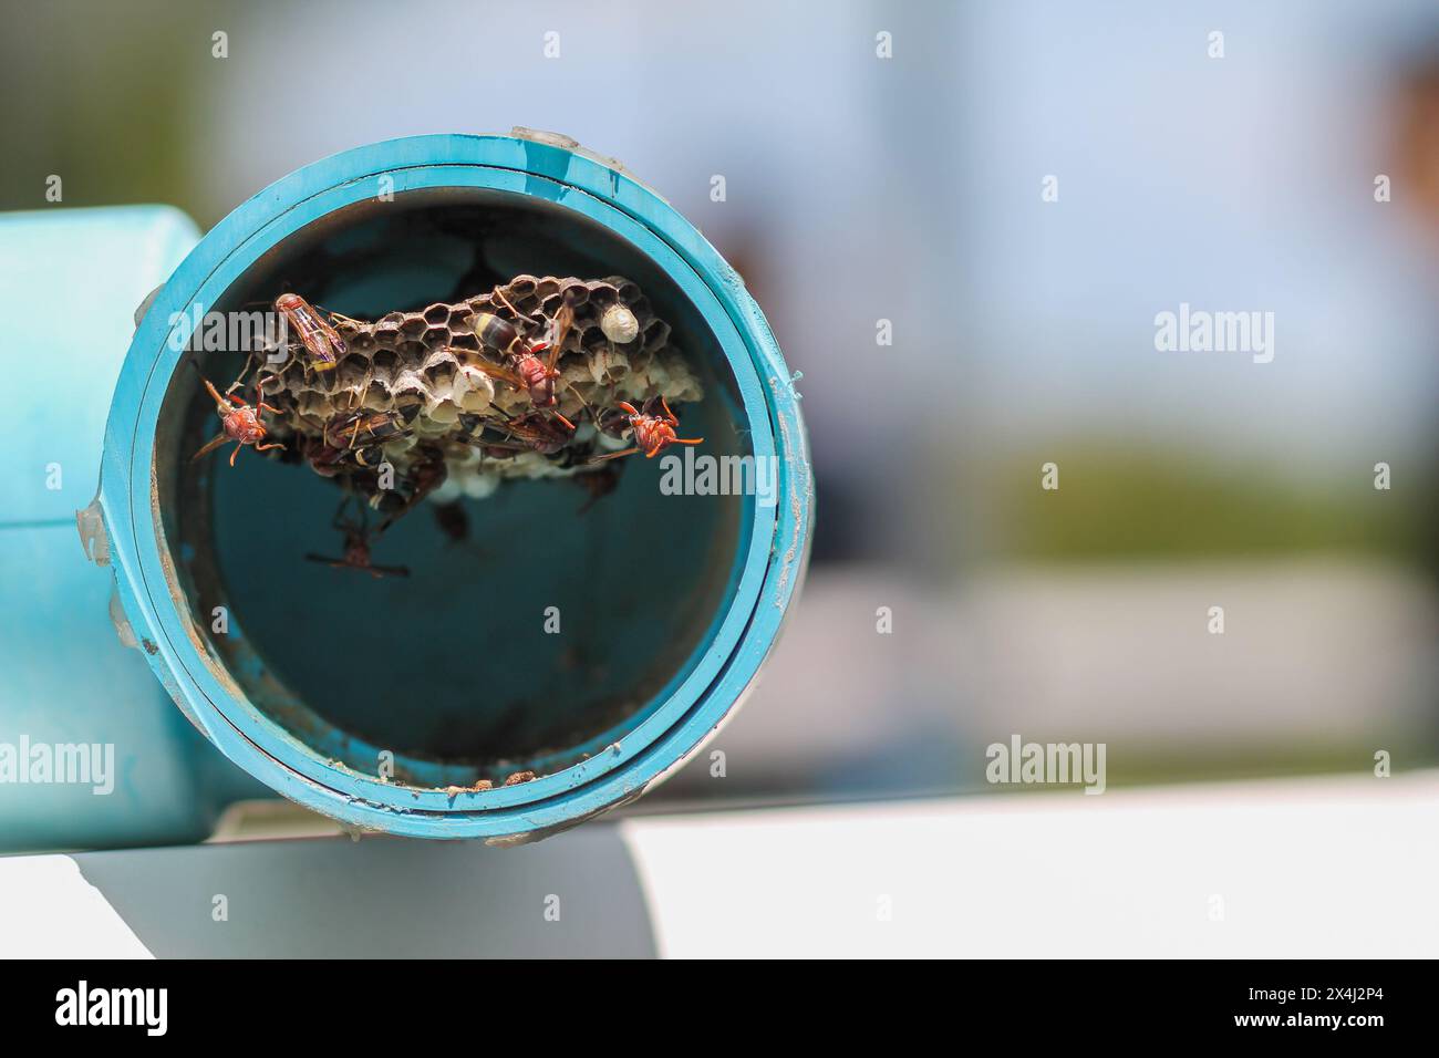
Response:
POLYGON ((704 396, 669 344, 669 325, 639 286, 617 276, 521 275, 489 294, 374 322, 327 318, 342 343, 334 364, 317 370, 292 327, 291 357, 263 377, 263 400, 275 409, 272 430, 286 458, 342 478, 377 508, 409 507, 422 495, 479 498, 507 478, 584 474, 596 469, 594 456, 626 445, 602 429, 616 402, 704 396), (568 321, 555 327, 561 309, 568 321), (508 324, 517 348, 558 335, 554 404, 537 407, 531 390, 502 377, 515 363, 496 347, 494 325, 486 331, 486 315, 508 324))

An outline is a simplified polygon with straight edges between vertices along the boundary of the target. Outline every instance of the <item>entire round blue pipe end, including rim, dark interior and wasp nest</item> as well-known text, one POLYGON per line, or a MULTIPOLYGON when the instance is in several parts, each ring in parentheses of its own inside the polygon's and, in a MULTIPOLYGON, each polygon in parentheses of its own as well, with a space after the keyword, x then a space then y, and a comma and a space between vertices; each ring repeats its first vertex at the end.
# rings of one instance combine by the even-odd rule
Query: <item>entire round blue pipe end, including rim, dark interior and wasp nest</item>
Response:
POLYGON ((137 330, 98 501, 125 619, 285 796, 409 835, 563 829, 692 754, 773 646, 812 523, 790 377, 714 248, 570 143, 315 163, 137 330), (296 322, 282 295, 322 337, 243 347, 256 305, 296 322))

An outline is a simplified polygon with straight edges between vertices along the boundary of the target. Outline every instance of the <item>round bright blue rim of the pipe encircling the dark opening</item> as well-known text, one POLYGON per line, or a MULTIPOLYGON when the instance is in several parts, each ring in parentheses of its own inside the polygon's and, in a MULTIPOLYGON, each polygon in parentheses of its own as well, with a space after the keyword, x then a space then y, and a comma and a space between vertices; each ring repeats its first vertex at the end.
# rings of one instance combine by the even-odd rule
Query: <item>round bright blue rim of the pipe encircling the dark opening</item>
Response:
POLYGON ((285 796, 347 823, 414 836, 544 836, 630 800, 698 750, 732 714, 773 648, 803 576, 813 488, 796 394, 763 314, 718 252, 653 191, 561 147, 509 137, 430 135, 347 151, 285 177, 212 230, 160 291, 135 333, 105 435, 101 505, 119 596, 151 668, 235 763, 285 796), (448 795, 364 774, 281 727, 216 671, 187 632, 151 497, 165 389, 191 305, 213 307, 286 238, 381 191, 486 189, 544 200, 603 225, 679 288, 734 374, 753 453, 774 455, 774 505, 744 504, 724 612, 678 685, 603 753, 534 782, 448 795), (173 334, 171 321, 178 320, 173 334))

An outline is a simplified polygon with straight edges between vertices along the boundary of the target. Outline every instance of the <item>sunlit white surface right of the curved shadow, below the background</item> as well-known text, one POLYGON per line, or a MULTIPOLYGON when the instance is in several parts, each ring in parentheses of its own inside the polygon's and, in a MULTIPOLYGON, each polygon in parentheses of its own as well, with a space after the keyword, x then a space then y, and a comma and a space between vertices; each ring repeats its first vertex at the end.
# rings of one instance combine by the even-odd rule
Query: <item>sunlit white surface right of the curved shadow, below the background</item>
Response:
POLYGON ((1436 823, 1439 774, 1422 773, 623 831, 669 957, 1433 957, 1436 823))

